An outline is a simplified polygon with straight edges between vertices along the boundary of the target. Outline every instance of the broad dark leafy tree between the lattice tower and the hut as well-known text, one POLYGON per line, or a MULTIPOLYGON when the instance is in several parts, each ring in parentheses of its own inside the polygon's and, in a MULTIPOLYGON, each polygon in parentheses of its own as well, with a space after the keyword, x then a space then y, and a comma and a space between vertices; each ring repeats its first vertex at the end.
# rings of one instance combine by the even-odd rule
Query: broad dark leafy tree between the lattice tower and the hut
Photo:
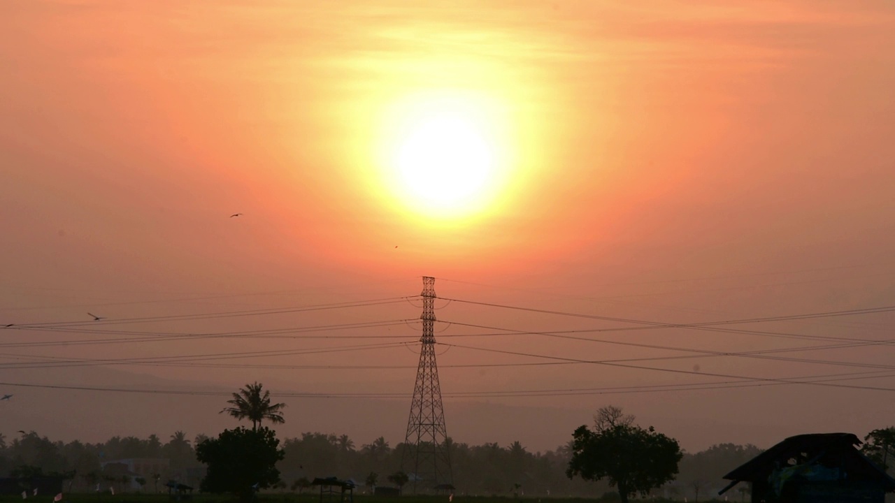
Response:
POLYGON ((610 486, 618 488, 622 503, 627 503, 629 496, 646 495, 673 480, 683 456, 677 440, 652 426, 644 430, 625 421, 606 423, 601 431, 599 424, 598 431, 581 426, 572 439, 567 477, 578 475, 585 481, 607 478, 610 486))

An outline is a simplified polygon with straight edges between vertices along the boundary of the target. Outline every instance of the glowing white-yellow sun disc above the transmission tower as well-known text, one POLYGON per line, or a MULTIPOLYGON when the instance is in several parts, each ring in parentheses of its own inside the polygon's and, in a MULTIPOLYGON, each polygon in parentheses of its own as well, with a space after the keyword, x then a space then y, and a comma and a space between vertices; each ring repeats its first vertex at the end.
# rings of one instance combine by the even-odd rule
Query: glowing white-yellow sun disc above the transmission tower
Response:
POLYGON ((481 213, 498 198, 507 164, 500 122, 493 104, 479 96, 406 98, 385 126, 388 192, 424 217, 481 213))

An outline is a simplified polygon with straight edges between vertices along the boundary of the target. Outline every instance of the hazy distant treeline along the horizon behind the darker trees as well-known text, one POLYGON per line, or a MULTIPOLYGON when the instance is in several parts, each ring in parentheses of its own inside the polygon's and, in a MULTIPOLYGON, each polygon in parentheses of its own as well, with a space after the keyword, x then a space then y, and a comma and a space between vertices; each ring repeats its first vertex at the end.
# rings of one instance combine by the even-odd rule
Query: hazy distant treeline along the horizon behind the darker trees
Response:
MULTIPOLYGON (((146 439, 113 437, 90 444, 78 440, 53 441, 34 431, 19 433, 12 439, 0 435, 0 475, 32 476, 35 473, 58 474, 66 478, 71 490, 94 490, 96 485, 133 489, 141 478, 139 490, 164 489, 168 480, 199 487, 200 463, 195 446, 205 435, 188 438, 176 431, 167 439, 150 435, 146 439), (129 459, 166 459, 158 473, 142 477, 104 470, 107 462, 129 459), (153 476, 155 475, 155 476, 153 476)), ((336 476, 353 479, 359 491, 369 491, 369 483, 394 485, 388 476, 401 470, 403 444, 392 446, 380 437, 369 444, 356 445, 347 435, 303 433, 299 438, 282 439, 286 456, 278 465, 282 482, 278 490, 303 490, 314 477, 336 476)), ((567 445, 546 452, 530 452, 520 442, 508 446, 485 443, 470 446, 448 441, 454 485, 460 494, 480 496, 568 497, 599 496, 609 491, 603 482, 584 482, 566 476, 571 456, 567 445)), ((676 482, 657 490, 671 498, 711 499, 724 485, 720 477, 760 452, 754 446, 720 444, 702 452, 686 454, 679 464, 676 482)), ((735 499, 740 495, 736 494, 735 499)))

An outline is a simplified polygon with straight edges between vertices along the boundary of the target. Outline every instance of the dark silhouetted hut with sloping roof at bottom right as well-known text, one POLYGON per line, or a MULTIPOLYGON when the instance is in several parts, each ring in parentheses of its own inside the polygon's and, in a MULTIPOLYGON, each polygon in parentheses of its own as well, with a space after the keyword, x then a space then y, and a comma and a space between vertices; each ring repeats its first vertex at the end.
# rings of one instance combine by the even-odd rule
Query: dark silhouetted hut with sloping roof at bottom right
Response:
POLYGON ((895 480, 862 455, 852 433, 797 435, 724 475, 752 485, 752 503, 883 503, 895 480))

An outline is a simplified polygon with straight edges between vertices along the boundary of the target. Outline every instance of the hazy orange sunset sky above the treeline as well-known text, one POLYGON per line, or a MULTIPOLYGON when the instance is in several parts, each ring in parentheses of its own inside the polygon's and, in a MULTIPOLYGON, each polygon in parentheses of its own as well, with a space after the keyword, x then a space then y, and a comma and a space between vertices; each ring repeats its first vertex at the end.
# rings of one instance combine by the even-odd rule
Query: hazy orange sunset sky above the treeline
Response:
POLYGON ((2 430, 258 380, 394 445, 423 276, 458 441, 890 426, 892 47, 882 0, 4 2, 2 430))

